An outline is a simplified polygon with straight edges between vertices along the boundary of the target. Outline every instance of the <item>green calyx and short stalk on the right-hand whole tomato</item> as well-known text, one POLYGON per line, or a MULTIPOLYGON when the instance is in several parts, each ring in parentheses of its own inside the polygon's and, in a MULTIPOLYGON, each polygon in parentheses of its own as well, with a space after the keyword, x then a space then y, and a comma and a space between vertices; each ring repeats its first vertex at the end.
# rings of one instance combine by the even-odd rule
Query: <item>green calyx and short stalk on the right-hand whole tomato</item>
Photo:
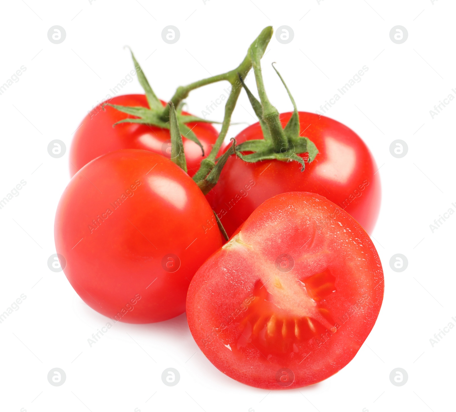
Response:
POLYGON ((293 114, 286 124, 285 128, 280 123, 279 112, 269 102, 268 96, 264 89, 263 75, 261 74, 260 58, 252 53, 253 67, 255 70, 255 79, 258 89, 260 101, 255 98, 249 88, 242 82, 246 91, 250 104, 252 105, 256 116, 259 119, 261 130, 264 139, 249 140, 241 143, 236 147, 236 154, 245 162, 259 162, 261 160, 277 159, 282 161, 296 161, 301 164, 301 171, 304 171, 306 163, 310 163, 315 159, 318 149, 315 144, 307 137, 300 136, 299 114, 296 108, 295 100, 290 93, 284 79, 275 69, 274 63, 272 67, 280 77, 285 89, 293 104, 293 114), (243 154, 243 152, 253 152, 243 154), (298 156, 301 153, 308 153, 306 158, 298 156))

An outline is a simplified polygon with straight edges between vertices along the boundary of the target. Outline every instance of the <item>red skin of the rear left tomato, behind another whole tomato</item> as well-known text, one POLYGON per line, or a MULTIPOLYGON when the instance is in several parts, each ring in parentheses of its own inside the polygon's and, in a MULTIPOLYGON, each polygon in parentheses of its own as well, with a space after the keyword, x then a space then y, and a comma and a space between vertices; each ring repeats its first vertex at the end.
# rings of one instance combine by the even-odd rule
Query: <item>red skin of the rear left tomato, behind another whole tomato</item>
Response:
MULTIPOLYGON (((104 101, 90 111, 73 137, 70 149, 71 176, 94 158, 120 149, 150 150, 171 158, 171 137, 168 129, 138 123, 120 123, 113 127, 117 121, 134 116, 122 113, 110 106, 105 106, 103 109, 102 107, 106 103, 149 107, 145 95, 121 95, 104 101)), ((188 127, 198 137, 204 148, 204 154, 207 156, 217 139, 217 130, 210 123, 188 123, 188 127)), ((204 157, 201 148, 196 143, 186 137, 183 137, 182 141, 187 158, 188 174, 193 176, 204 157)))

